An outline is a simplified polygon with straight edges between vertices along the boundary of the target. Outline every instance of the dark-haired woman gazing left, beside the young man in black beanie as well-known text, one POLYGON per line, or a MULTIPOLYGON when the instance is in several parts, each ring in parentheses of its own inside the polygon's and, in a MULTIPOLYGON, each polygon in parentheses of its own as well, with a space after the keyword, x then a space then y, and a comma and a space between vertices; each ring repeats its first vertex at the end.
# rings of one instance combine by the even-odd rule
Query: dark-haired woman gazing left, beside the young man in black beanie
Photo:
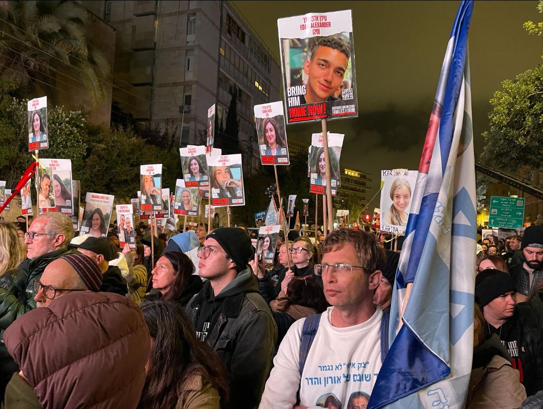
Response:
POLYGON ((179 251, 168 251, 156 261, 153 274, 153 290, 144 301, 175 301, 185 307, 192 296, 204 286, 201 278, 194 273, 191 259, 179 251))

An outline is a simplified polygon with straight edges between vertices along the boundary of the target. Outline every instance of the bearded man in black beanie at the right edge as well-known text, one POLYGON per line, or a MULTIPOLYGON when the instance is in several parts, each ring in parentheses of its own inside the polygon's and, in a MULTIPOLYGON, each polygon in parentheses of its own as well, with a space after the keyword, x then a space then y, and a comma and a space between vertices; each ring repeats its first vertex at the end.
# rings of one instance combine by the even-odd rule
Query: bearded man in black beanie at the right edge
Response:
POLYGON ((509 273, 515 280, 516 291, 531 297, 543 289, 543 226, 526 228, 521 251, 520 261, 509 266, 509 273))

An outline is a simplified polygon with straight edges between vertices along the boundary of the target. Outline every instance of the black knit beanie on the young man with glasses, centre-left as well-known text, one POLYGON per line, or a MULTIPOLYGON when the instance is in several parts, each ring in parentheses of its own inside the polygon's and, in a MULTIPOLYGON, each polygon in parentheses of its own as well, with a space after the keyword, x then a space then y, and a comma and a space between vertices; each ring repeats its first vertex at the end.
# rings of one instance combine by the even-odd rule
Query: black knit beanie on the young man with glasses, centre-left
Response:
POLYGON ((249 260, 255 255, 251 239, 244 230, 236 227, 219 227, 213 230, 206 238, 214 238, 220 247, 236 265, 238 273, 247 267, 249 260))

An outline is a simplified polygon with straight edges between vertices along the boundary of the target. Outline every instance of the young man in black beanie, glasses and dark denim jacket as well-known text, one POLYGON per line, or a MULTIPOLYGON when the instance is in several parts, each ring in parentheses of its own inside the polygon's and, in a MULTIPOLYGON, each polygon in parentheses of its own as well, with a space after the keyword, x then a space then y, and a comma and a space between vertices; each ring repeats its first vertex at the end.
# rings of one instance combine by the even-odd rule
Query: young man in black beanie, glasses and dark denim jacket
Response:
POLYGON ((253 256, 243 230, 213 230, 198 251, 200 276, 207 281, 185 309, 197 337, 225 363, 229 408, 258 405, 277 338, 275 320, 248 265, 253 256))

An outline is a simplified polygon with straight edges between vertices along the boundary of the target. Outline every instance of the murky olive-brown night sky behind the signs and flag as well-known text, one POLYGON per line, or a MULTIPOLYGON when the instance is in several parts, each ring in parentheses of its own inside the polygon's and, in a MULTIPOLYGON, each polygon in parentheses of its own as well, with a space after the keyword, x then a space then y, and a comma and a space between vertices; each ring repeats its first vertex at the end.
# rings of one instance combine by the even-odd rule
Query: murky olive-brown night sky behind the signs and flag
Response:
MULTIPOLYGON (((417 169, 457 1, 233 2, 279 57, 277 18, 308 12, 353 11, 359 116, 328 122, 345 134, 341 166, 369 172, 373 192, 381 169, 417 169)), ((522 28, 541 21, 537 1, 475 2, 469 33, 476 156, 488 129, 489 99, 501 81, 542 62, 543 39, 522 28)), ((279 59, 278 59, 279 61, 279 59)), ((280 87, 282 89, 282 85, 280 87)), ((287 135, 310 144, 320 122, 288 125, 287 135)), ((378 207, 378 199, 374 202, 378 207)))

